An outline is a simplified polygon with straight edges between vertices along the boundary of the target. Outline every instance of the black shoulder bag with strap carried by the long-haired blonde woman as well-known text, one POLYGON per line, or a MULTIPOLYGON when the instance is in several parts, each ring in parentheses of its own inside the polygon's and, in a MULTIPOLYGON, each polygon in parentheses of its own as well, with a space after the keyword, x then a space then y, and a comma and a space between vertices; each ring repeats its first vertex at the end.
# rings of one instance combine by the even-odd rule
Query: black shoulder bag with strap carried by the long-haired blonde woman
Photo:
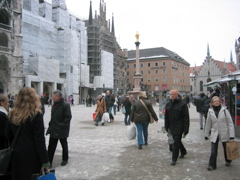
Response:
POLYGON ((0 150, 0 175, 6 175, 10 161, 12 159, 13 147, 17 141, 21 126, 18 128, 16 136, 10 147, 0 150))

